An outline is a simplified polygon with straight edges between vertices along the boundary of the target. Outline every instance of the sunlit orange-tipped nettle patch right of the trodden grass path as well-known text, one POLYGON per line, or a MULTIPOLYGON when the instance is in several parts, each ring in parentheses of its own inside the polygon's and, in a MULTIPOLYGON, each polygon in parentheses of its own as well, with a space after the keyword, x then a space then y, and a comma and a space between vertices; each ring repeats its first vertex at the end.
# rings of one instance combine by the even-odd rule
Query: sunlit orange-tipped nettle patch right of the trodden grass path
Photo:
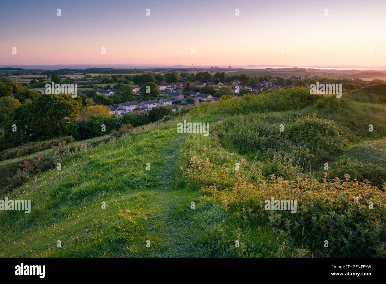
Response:
POLYGON ((239 228, 266 224, 284 232, 288 244, 322 257, 386 255, 384 191, 349 174, 343 181, 329 181, 327 172, 322 182, 300 176, 284 180, 274 174, 266 179, 256 166, 247 170, 244 160, 238 161, 238 170, 231 163, 216 163, 216 151, 182 150, 180 169, 188 187, 212 196, 229 222, 239 228), (265 210, 264 201, 271 198, 296 200, 296 213, 265 210))

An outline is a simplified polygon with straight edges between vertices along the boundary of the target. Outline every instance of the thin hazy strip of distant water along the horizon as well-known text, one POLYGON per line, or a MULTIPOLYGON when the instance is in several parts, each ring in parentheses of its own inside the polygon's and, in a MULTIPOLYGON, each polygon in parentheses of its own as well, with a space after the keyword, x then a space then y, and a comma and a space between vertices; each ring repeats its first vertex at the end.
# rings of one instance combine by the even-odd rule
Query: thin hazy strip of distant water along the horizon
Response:
MULTIPOLYGON (((219 65, 218 68, 228 68, 231 65, 219 65)), ((16 68, 24 68, 24 69, 44 69, 44 70, 56 70, 63 68, 71 68, 71 69, 86 69, 86 68, 192 68, 191 65, 169 65, 169 64, 57 64, 57 65, 0 65, 0 67, 16 67, 16 68)), ((211 66, 197 66, 197 68, 210 68, 211 66)), ((241 65, 232 65, 233 69, 236 68, 244 68, 244 69, 282 69, 282 68, 306 68, 306 69, 321 69, 321 70, 374 70, 381 71, 386 70, 386 67, 382 66, 380 68, 366 68, 364 66, 344 66, 344 67, 319 67, 319 66, 241 66, 241 65)))

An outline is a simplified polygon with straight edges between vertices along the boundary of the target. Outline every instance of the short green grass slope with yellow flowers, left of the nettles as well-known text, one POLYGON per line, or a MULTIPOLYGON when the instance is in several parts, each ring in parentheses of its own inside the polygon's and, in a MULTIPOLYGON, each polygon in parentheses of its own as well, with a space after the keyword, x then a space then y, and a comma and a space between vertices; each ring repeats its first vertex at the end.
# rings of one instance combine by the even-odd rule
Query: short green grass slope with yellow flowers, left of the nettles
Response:
POLYGON ((196 241, 198 226, 175 218, 176 205, 190 206, 198 193, 171 191, 185 139, 174 134, 173 128, 108 142, 44 174, 37 193, 32 184, 15 191, 14 198, 32 199, 33 209, 0 213, 2 256, 207 255, 196 241), (7 214, 12 218, 2 218, 7 214))

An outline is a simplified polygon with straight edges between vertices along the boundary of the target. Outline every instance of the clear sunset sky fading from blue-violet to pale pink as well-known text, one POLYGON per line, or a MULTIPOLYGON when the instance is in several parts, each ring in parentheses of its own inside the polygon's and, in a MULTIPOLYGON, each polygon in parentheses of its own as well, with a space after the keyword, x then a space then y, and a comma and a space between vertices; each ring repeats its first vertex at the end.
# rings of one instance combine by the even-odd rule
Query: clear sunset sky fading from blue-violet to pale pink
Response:
POLYGON ((386 0, 0 0, 0 7, 2 65, 386 66, 386 0))

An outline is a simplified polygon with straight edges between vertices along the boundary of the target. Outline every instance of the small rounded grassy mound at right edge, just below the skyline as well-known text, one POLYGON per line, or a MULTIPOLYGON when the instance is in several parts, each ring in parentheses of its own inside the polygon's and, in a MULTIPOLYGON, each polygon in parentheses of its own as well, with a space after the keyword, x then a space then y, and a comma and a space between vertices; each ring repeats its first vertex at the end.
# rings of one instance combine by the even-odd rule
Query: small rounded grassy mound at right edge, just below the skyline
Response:
POLYGON ((386 84, 371 85, 343 95, 363 103, 386 103, 386 84))

